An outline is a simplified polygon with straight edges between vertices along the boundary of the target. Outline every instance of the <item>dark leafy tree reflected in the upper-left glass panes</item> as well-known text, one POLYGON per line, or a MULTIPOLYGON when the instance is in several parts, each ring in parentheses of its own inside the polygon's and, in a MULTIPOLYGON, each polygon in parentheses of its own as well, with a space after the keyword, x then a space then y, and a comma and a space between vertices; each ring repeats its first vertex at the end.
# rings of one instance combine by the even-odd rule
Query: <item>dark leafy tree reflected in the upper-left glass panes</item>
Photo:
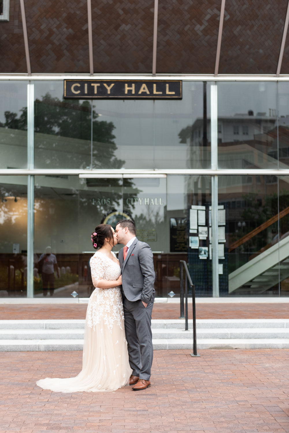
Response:
MULTIPOLYGON (((0 123, 0 127, 27 130, 27 108, 22 108, 20 112, 17 118, 16 113, 5 111, 5 123, 0 123)), ((98 117, 95 110, 91 113, 91 102, 88 100, 59 100, 46 93, 34 103, 35 132, 85 140, 88 142, 85 148, 88 153, 91 151, 92 132, 94 168, 121 168, 124 161, 114 156, 117 150, 114 123, 100 121, 98 117)), ((79 157, 68 152, 67 158, 79 157)))

